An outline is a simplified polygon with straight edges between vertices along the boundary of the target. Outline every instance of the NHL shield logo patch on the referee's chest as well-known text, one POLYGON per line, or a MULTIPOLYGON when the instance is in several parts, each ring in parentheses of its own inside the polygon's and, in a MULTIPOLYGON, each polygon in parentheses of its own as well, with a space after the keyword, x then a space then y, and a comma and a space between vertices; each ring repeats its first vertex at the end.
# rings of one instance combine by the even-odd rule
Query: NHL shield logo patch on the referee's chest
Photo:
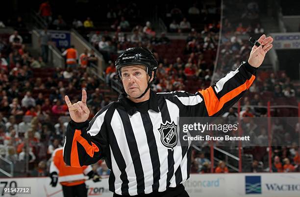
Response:
POLYGON ((173 151, 178 141, 177 125, 174 121, 172 123, 166 122, 160 125, 158 131, 160 132, 160 141, 168 149, 173 151))

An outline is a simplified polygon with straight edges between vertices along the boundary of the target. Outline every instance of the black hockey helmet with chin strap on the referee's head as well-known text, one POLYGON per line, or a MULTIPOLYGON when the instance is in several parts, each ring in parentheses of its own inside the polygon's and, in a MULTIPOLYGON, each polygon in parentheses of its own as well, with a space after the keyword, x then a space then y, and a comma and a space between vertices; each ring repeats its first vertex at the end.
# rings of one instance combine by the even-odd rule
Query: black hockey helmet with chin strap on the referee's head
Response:
MULTIPOLYGON (((139 96, 138 98, 141 98, 144 96, 144 94, 147 92, 147 90, 150 88, 150 86, 154 83, 156 78, 156 69, 157 69, 157 61, 152 54, 150 50, 148 50, 145 47, 132 47, 127 48, 116 60, 115 62, 118 79, 122 84, 122 73, 121 68, 124 66, 130 66, 130 65, 144 65, 146 66, 147 74, 150 76, 150 79, 152 77, 152 71, 154 71, 153 80, 150 82, 150 79, 148 81, 148 88, 145 90, 145 92, 139 96)), ((124 90, 125 92, 125 90, 124 90)), ((126 92, 125 92, 126 93, 126 92)))

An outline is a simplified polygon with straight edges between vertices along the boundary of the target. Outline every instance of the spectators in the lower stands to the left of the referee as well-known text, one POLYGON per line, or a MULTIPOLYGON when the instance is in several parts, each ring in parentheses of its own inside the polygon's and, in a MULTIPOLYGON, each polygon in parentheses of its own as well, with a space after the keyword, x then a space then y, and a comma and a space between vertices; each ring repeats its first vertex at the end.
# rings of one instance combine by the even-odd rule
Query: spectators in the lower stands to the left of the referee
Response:
POLYGON ((60 69, 46 67, 42 57, 35 60, 17 31, 0 43, 0 154, 19 166, 16 175, 25 173, 26 161, 27 175, 47 175, 51 153, 62 146, 70 121, 64 95, 74 103, 85 88, 90 119, 111 98, 100 89, 98 77, 77 69, 81 64, 60 69))

